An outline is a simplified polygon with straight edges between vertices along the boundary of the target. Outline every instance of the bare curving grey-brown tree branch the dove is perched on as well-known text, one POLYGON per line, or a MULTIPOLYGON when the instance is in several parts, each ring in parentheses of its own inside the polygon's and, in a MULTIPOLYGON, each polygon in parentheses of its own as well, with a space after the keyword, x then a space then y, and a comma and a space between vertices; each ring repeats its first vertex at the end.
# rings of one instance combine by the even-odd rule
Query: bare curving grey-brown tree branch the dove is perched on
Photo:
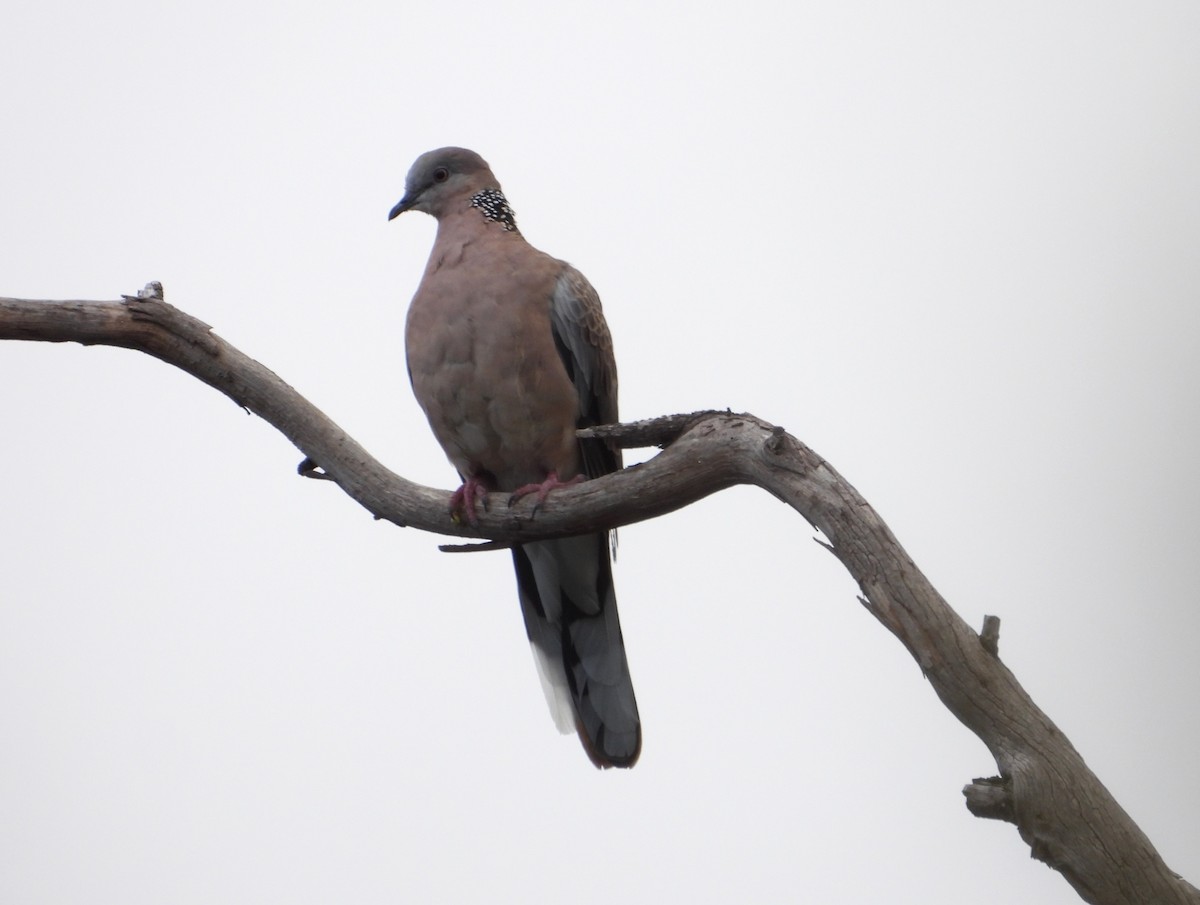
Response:
MULTIPOLYGON (((151 284, 154 287, 155 284, 151 284)), ((1015 823, 1033 857, 1097 905, 1200 904, 1000 660, 1000 623, 976 634, 942 599, 858 492, 781 427, 731 412, 671 415, 593 428, 625 446, 664 445, 649 462, 533 503, 491 495, 472 528, 448 515, 449 493, 394 474, 276 374, 193 317, 161 287, 122 301, 0 299, 0 338, 138 349, 193 374, 262 416, 377 519, 487 549, 617 527, 683 508, 734 484, 784 501, 826 538, 862 588, 862 603, 908 648, 949 711, 988 745, 1000 772, 964 789, 982 817, 1015 823)))

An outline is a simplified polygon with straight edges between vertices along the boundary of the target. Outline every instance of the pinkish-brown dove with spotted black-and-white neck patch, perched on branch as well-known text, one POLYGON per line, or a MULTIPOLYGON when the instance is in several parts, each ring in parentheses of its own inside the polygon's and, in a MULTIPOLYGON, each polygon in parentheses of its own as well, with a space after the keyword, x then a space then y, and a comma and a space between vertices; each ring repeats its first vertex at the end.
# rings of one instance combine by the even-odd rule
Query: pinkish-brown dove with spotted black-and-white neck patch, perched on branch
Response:
MULTIPOLYGON (((464 148, 419 156, 388 215, 415 210, 437 235, 404 326, 413 394, 462 486, 455 519, 487 495, 510 503, 622 468, 620 450, 576 437, 617 419, 617 365, 600 298, 539 251, 487 162, 464 148)), ((612 581, 608 532, 512 547, 517 597, 558 729, 596 767, 632 767, 641 718, 612 581)))

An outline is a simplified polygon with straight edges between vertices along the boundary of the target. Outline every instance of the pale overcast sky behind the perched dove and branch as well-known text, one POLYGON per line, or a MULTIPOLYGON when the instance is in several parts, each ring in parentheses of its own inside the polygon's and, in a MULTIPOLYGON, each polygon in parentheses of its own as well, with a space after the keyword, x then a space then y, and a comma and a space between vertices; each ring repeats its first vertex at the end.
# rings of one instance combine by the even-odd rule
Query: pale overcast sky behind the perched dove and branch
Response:
MULTIPOLYGON (((433 221, 386 214, 473 148, 599 289, 623 414, 812 445, 1200 883, 1192 0, 10 6, 0 295, 160 280, 449 489, 433 221)), ((137 353, 0 344, 0 901, 1078 901, 762 492, 622 532, 644 748, 600 773, 506 555, 137 353)))

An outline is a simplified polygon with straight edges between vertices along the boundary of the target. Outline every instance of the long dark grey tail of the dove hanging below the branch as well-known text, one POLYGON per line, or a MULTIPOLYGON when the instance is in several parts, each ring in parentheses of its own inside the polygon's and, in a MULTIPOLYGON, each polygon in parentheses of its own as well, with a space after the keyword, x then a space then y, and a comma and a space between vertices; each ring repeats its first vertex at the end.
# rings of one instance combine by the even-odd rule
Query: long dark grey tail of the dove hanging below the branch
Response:
POLYGON ((551 715, 574 727, 598 767, 632 767, 642 750, 634 682, 612 587, 608 535, 512 549, 517 592, 551 715))

